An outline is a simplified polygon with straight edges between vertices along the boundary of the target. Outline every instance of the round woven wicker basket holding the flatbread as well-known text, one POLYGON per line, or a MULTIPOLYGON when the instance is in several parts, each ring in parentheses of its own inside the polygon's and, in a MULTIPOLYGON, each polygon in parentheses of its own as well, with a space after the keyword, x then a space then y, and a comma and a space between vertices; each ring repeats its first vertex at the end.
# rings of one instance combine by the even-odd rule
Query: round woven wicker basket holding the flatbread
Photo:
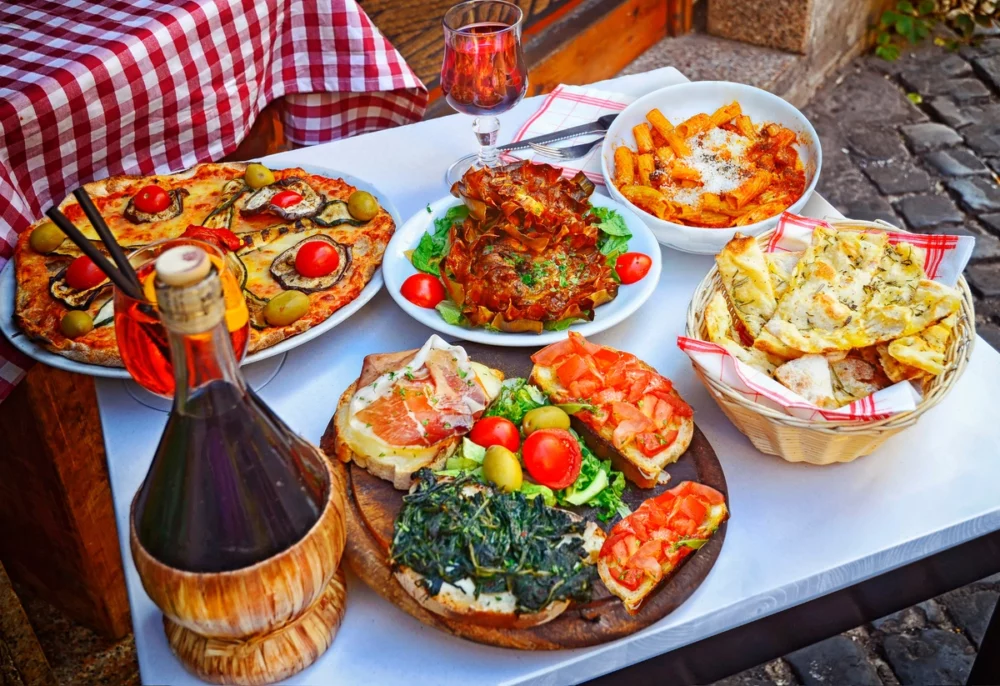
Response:
MULTIPOLYGON (((845 219, 831 221, 830 224, 835 228, 906 233, 885 222, 845 219)), ((762 247, 765 246, 773 233, 772 230, 760 235, 757 242, 762 247)), ((685 333, 688 338, 708 340, 705 307, 716 291, 721 289, 718 268, 713 266, 708 276, 698 285, 688 308, 685 333)), ((959 278, 957 289, 962 295, 962 309, 946 351, 945 371, 925 382, 923 399, 915 410, 902 412, 888 419, 874 422, 799 419, 747 400, 725 383, 708 377, 698 365, 693 362, 692 365, 722 411, 761 452, 778 455, 789 462, 850 462, 874 451, 890 436, 915 424, 920 415, 941 402, 965 371, 976 338, 975 315, 972 294, 964 277, 959 278)))

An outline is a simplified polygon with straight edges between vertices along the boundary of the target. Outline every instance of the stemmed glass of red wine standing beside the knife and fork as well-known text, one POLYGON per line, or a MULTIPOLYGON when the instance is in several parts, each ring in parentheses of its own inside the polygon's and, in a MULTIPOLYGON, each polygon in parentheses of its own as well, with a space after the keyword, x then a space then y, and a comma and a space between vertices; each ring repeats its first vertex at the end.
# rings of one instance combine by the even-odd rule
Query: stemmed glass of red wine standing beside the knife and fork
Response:
POLYGON ((470 167, 500 163, 496 115, 520 102, 528 88, 521 52, 523 19, 521 8, 502 0, 470 0, 444 15, 441 90, 449 105, 475 116, 472 130, 479 139, 479 154, 451 165, 448 183, 461 179, 470 167))

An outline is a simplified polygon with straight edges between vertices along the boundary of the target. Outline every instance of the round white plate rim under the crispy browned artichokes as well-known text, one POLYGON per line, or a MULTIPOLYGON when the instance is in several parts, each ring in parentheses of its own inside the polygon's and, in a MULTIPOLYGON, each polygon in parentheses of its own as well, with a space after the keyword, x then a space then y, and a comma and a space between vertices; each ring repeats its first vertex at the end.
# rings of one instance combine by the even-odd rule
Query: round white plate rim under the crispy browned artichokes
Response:
MULTIPOLYGON (((400 293, 400 288, 412 274, 417 270, 406 257, 406 251, 417 247, 421 236, 427 231, 433 230, 434 220, 443 217, 449 208, 461 204, 461 200, 451 195, 441 198, 437 202, 428 205, 427 209, 419 210, 415 215, 397 229, 389 247, 386 248, 385 258, 382 260, 382 273, 385 276, 386 289, 393 300, 403 308, 403 311, 435 331, 476 343, 487 345, 497 345, 503 347, 528 347, 543 346, 555 343, 566 338, 566 331, 544 331, 541 334, 534 333, 506 333, 503 331, 488 331, 481 328, 465 328, 454 324, 448 324, 437 310, 418 307, 404 298, 400 293)), ((649 299, 656 290, 656 283, 660 280, 660 269, 662 259, 660 245, 649 228, 641 219, 620 202, 611 198, 594 193, 590 196, 592 205, 598 207, 610 207, 618 210, 629 230, 632 238, 629 240, 629 252, 641 252, 649 255, 653 264, 649 273, 639 281, 628 286, 622 285, 618 289, 618 297, 609 303, 605 303, 594 312, 594 320, 581 322, 570 327, 571 331, 576 331, 584 336, 609 329, 618 322, 624 320, 649 299)))

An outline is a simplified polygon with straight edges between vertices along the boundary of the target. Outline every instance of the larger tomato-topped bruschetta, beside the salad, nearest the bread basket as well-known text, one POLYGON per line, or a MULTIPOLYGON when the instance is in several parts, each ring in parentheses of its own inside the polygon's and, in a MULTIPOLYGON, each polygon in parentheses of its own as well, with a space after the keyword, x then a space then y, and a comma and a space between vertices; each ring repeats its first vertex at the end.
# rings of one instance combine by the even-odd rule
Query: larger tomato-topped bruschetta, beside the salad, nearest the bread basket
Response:
POLYGON ((655 486, 664 467, 691 444, 690 405, 670 379, 635 355, 571 331, 531 360, 531 381, 553 403, 578 405, 573 427, 637 486, 655 486))

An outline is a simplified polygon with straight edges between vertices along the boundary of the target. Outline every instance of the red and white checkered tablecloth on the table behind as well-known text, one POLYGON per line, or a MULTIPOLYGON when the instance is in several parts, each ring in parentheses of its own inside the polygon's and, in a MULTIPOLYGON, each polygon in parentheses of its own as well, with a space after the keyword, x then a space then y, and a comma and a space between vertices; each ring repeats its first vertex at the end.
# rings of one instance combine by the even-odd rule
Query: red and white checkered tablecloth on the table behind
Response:
MULTIPOLYGON (((416 121, 427 91, 355 0, 0 3, 0 268, 72 189, 218 160, 279 98, 313 145, 416 121)), ((0 336, 0 400, 29 362, 0 336)))

